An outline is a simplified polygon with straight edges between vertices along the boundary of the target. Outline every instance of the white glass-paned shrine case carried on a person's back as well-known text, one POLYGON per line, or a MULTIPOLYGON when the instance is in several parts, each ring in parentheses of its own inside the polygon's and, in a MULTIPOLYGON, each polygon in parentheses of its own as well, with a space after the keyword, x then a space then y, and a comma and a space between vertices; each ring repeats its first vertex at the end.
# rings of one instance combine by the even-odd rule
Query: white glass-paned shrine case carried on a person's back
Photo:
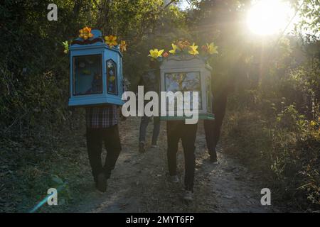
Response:
MULTIPOLYGON (((214 120, 211 71, 212 68, 206 64, 206 60, 198 55, 171 55, 160 66, 160 90, 161 92, 182 92, 183 94, 190 92, 189 108, 198 109, 199 119, 214 120), (192 92, 198 92, 198 106, 193 105, 192 92)), ((166 99, 166 104, 169 105, 170 101, 166 99)), ((169 108, 166 108, 166 111, 166 116, 161 116, 161 120, 188 118, 182 114, 183 110, 179 110, 178 106, 174 111, 170 111, 169 108)))

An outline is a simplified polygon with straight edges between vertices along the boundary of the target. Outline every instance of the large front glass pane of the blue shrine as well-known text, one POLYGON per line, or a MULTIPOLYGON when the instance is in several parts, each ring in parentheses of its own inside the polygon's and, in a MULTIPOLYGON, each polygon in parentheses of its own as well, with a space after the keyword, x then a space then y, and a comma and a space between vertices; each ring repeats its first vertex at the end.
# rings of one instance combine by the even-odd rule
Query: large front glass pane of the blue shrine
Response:
POLYGON ((73 94, 102 93, 102 56, 73 57, 73 94))

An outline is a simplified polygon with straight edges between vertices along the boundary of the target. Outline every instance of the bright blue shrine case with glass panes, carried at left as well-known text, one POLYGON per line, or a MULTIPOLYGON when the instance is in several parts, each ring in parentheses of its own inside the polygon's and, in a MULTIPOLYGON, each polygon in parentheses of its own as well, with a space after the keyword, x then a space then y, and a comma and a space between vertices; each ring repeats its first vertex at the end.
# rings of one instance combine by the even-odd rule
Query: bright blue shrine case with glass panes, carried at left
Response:
POLYGON ((69 106, 122 105, 122 52, 98 30, 70 45, 69 106))

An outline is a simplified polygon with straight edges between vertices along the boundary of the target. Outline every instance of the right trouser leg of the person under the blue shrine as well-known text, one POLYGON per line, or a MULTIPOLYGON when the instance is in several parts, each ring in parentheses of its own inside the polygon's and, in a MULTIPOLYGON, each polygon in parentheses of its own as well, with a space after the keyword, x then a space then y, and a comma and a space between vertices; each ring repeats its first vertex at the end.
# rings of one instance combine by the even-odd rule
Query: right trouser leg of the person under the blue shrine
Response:
POLYGON ((118 126, 112 126, 104 129, 105 149, 107 150, 107 157, 105 158, 105 166, 103 167, 103 173, 106 179, 110 178, 112 170, 114 170, 115 164, 121 151, 121 143, 119 138, 118 126))

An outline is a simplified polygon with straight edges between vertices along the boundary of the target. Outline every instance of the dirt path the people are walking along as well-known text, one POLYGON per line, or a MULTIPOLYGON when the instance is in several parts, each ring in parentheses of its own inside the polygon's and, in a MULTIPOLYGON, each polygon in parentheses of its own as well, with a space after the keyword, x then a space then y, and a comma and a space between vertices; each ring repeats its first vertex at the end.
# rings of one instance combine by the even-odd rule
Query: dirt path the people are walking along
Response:
MULTIPOLYGON (((148 138, 151 138, 151 125, 148 138)), ((256 178, 231 157, 218 153, 220 165, 207 161, 203 123, 199 123, 196 143, 195 201, 185 204, 182 184, 171 184, 166 177, 166 127, 162 123, 159 148, 137 152, 139 118, 120 125, 122 153, 105 194, 95 191, 87 179, 87 194, 76 212, 270 212, 260 204, 256 178)), ((179 145, 178 172, 183 179, 183 153, 179 145)), ((85 150, 85 148, 83 148, 85 150)))

